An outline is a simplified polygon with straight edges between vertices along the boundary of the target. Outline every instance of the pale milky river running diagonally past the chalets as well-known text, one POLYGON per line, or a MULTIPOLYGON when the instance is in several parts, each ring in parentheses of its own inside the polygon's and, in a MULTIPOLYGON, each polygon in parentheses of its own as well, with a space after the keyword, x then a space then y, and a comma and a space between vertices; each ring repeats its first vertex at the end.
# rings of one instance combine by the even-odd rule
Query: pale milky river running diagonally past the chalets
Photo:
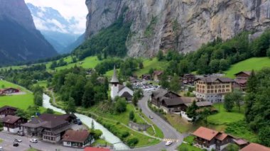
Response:
MULTIPOLYGON (((59 113, 65 113, 65 111, 63 111, 62 109, 52 106, 50 104, 50 96, 46 94, 43 94, 43 107, 53 109, 53 111, 57 111, 59 113)), ((82 115, 80 113, 75 113, 75 116, 77 116, 77 118, 80 118, 82 123, 84 123, 89 128, 91 128, 92 120, 93 120, 92 118, 82 115)), ((95 120, 94 120, 94 125, 96 129, 102 130, 102 133, 103 133, 102 138, 104 138, 104 140, 106 140, 107 142, 111 144, 119 142, 117 144, 114 144, 115 150, 128 150, 129 149, 129 147, 125 145, 123 142, 121 142, 121 140, 117 138, 117 136, 113 135, 111 132, 109 132, 109 130, 107 130, 107 128, 104 128, 103 125, 97 123, 95 120)))

